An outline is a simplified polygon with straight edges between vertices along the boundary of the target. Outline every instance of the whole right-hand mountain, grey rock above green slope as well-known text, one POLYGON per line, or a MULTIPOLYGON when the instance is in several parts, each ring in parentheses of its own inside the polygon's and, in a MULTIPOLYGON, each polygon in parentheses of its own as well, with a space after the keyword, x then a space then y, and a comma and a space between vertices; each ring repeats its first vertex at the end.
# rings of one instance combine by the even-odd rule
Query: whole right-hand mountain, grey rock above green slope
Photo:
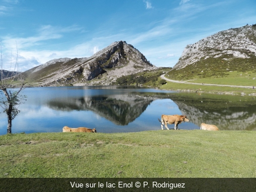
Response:
POLYGON ((256 24, 230 28, 188 44, 169 76, 174 77, 181 69, 186 73, 182 79, 256 70, 256 24))

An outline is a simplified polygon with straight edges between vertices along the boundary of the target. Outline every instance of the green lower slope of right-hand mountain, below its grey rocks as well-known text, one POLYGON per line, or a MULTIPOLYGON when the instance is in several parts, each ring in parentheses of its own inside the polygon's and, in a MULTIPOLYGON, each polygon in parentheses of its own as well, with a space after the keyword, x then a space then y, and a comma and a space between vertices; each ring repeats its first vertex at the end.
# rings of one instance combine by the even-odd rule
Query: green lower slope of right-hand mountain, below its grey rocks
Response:
POLYGON ((241 73, 244 75, 251 73, 251 77, 255 77, 256 56, 250 55, 248 59, 232 58, 230 55, 222 55, 219 58, 202 58, 181 70, 172 70, 167 75, 173 80, 193 80, 233 77, 241 73), (228 60, 224 60, 224 58, 228 58, 228 60))

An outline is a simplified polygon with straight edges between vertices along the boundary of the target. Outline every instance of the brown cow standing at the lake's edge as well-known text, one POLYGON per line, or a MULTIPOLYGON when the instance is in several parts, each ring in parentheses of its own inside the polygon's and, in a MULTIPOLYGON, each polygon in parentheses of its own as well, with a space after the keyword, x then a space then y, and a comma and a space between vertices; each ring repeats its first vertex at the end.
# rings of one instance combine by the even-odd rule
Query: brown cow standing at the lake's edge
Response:
MULTIPOLYGON (((160 121, 160 119, 159 119, 160 121)), ((186 117, 185 115, 162 115, 161 116, 161 128, 162 130, 164 130, 164 128, 162 127, 162 125, 165 126, 166 129, 169 129, 167 124, 175 124, 174 129, 178 129, 178 124, 180 124, 181 122, 188 122, 189 119, 188 117, 186 117)))

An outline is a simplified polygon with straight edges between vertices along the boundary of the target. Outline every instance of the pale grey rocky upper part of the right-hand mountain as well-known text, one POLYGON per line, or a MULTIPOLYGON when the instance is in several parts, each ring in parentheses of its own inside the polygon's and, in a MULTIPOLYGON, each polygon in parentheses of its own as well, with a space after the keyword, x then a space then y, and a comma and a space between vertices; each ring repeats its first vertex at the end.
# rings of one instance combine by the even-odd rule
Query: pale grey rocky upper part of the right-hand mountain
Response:
POLYGON ((209 58, 252 58, 256 56, 256 25, 230 28, 188 44, 173 69, 181 69, 209 58))

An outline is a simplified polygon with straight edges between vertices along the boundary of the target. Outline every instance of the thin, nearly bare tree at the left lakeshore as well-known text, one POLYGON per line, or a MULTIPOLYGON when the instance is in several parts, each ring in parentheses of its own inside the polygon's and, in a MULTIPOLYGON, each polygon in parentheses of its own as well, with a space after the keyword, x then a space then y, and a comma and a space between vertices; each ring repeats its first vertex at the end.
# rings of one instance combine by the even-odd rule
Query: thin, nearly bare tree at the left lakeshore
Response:
POLYGON ((19 105, 23 104, 23 100, 25 100, 26 96, 21 95, 22 89, 25 89, 24 85, 26 84, 24 81, 24 77, 22 73, 18 70, 18 48, 16 43, 16 59, 13 64, 13 52, 11 52, 11 59, 10 59, 10 70, 6 71, 7 75, 5 75, 3 70, 3 59, 2 59, 2 40, 0 40, 0 51, 1 51, 1 82, 0 82, 0 105, 3 108, 3 112, 6 113, 8 119, 7 125, 7 133, 11 133, 11 121, 18 115, 20 112, 18 110, 19 105), (12 66, 14 65, 14 66, 12 66), (12 67, 14 70, 12 70, 12 67), (14 89, 14 85, 15 88, 14 89))

